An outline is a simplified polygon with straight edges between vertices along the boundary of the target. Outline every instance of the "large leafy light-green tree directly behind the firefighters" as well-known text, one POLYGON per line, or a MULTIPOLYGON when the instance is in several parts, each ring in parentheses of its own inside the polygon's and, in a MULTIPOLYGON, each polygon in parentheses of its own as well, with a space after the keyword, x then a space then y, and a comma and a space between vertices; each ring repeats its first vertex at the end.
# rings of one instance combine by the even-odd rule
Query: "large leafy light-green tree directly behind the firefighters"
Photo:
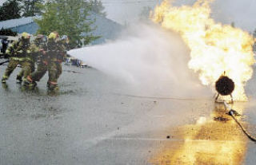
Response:
POLYGON ((67 35, 70 39, 70 48, 86 45, 97 39, 91 31, 88 19, 90 7, 83 0, 52 0, 41 5, 42 18, 35 19, 38 23, 38 33, 48 35, 57 31, 60 35, 67 35))

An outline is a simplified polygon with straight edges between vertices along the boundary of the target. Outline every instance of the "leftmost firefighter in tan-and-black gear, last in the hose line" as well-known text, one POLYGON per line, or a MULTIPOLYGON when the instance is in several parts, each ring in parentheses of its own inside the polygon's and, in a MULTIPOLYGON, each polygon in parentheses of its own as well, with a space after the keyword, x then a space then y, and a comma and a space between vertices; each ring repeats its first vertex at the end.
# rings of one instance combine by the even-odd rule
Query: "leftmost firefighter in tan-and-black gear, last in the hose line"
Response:
MULTIPOLYGON (((26 77, 31 73, 32 64, 30 57, 30 34, 26 32, 22 33, 22 37, 10 45, 6 50, 6 53, 10 57, 10 62, 2 77, 2 83, 6 83, 6 80, 10 77, 10 74, 14 71, 17 65, 22 66, 22 74, 24 75, 22 81, 26 81, 26 77)), ((19 79, 19 77, 17 77, 17 79, 19 79)))

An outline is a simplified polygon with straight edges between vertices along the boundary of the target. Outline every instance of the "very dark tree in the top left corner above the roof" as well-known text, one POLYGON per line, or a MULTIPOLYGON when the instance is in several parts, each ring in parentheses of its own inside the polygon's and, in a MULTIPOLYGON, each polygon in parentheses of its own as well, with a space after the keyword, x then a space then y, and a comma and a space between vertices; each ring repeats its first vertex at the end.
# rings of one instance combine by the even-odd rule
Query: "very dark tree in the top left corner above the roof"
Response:
POLYGON ((21 8, 17 0, 8 0, 0 6, 0 21, 21 18, 21 8))

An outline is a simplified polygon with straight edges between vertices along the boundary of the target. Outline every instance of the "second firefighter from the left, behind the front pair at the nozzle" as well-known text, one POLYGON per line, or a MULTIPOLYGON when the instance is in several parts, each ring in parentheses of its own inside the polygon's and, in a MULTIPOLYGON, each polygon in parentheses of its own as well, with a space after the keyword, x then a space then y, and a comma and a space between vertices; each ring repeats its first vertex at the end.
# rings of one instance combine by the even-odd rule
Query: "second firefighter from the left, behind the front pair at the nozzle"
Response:
POLYGON ((26 84, 34 86, 36 85, 36 81, 40 81, 48 69, 49 57, 46 54, 46 36, 38 34, 34 40, 34 44, 31 45, 31 50, 34 53, 35 61, 37 61, 38 69, 27 77, 26 84))

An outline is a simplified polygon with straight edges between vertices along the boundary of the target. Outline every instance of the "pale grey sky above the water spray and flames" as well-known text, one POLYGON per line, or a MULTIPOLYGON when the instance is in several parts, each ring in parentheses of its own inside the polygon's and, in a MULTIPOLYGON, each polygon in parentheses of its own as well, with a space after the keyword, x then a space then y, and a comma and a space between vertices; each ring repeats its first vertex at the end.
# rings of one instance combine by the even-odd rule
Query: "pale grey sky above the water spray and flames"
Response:
MULTIPOLYGON (((138 20, 144 6, 154 8, 161 0, 102 0, 107 18, 121 24, 138 20)), ((192 4, 195 0, 176 0, 174 5, 192 4)), ((5 0, 0 0, 0 5, 5 0)), ((256 28, 255 0, 215 0, 212 4, 212 16, 215 21, 224 24, 235 23, 235 26, 249 32, 256 28), (254 18, 255 17, 255 18, 254 18)))

